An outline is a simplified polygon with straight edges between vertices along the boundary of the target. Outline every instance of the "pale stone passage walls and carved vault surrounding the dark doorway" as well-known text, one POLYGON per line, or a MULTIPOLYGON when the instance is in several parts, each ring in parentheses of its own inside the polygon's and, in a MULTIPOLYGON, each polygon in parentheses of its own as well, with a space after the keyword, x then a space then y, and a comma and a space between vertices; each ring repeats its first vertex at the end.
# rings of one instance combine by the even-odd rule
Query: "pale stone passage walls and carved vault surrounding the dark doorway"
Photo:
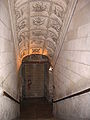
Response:
POLYGON ((55 117, 90 119, 89 11, 89 0, 0 0, 1 120, 20 114, 18 72, 31 54, 53 64, 55 117))

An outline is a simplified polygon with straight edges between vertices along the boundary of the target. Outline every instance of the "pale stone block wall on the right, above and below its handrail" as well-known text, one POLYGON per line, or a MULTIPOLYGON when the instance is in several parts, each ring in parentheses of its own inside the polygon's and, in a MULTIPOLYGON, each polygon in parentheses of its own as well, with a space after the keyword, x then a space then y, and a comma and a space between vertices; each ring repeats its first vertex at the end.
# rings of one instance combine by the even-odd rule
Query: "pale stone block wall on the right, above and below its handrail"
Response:
MULTIPOLYGON (((78 0, 63 45, 55 58, 54 100, 90 87, 89 11, 90 0, 78 0)), ((89 99, 90 92, 87 92, 55 103, 54 114, 59 120, 89 120, 89 99)))

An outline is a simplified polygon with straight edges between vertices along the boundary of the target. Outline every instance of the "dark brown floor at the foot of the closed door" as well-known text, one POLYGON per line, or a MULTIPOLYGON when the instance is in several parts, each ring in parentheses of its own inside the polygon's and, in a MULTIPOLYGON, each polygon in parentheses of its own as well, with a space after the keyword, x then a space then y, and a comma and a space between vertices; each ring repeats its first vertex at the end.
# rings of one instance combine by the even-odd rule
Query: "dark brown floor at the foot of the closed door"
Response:
POLYGON ((21 116, 15 120, 54 120, 52 104, 45 98, 25 99, 21 103, 21 116))

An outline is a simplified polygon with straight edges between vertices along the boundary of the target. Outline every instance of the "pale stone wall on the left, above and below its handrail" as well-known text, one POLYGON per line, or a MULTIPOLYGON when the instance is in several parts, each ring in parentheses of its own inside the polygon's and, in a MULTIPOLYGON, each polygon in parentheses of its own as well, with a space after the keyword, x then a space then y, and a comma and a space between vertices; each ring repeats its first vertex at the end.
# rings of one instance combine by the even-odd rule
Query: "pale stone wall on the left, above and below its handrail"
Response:
MULTIPOLYGON (((15 99, 19 99, 15 48, 8 0, 0 0, 0 89, 3 89, 15 99)), ((0 95, 0 120, 11 120, 18 115, 19 105, 0 95)))

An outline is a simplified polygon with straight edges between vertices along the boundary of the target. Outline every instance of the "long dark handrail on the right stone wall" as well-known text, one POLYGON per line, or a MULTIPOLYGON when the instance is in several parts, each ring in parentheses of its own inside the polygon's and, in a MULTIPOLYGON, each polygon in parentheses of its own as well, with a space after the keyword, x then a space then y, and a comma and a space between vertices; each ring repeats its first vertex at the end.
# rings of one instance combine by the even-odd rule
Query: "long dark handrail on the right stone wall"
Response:
POLYGON ((75 97, 75 96, 79 96, 79 95, 82 95, 82 94, 87 93, 87 92, 90 92, 90 88, 87 88, 87 89, 85 89, 83 91, 74 93, 72 95, 68 95, 68 96, 60 98, 58 100, 53 100, 53 103, 57 103, 57 102, 60 102, 60 101, 63 101, 63 100, 66 100, 66 99, 69 99, 69 98, 72 98, 72 97, 75 97))

